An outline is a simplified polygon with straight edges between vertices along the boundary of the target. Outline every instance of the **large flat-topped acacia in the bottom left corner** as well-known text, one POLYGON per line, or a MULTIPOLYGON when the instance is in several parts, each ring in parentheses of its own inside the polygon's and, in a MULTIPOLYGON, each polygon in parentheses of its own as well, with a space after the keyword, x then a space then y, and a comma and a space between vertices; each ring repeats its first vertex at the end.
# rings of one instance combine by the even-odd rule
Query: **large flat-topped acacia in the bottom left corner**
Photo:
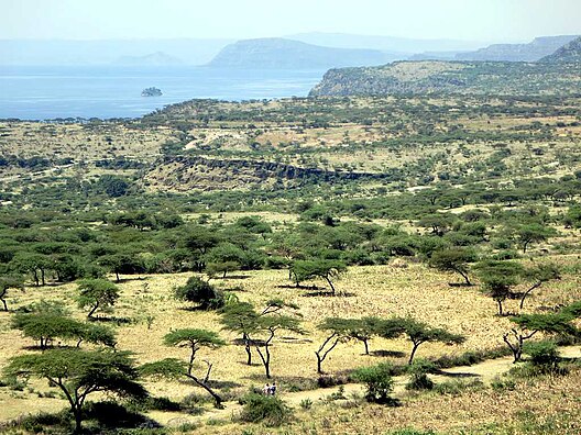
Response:
POLYGON ((52 349, 42 354, 13 357, 6 376, 47 379, 61 389, 75 417, 75 432, 83 431, 83 410, 88 395, 107 392, 143 399, 145 389, 138 382, 138 371, 127 352, 52 349))

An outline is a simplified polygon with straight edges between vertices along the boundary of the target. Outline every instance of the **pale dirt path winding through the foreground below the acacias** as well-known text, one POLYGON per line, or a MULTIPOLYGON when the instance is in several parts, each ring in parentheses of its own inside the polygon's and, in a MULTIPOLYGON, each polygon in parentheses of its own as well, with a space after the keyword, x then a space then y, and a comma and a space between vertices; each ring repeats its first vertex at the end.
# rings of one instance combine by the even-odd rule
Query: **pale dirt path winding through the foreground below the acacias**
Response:
MULTIPOLYGON (((581 358, 581 346, 561 347, 560 354, 567 358, 581 358)), ((513 358, 504 357, 497 359, 489 359, 473 366, 461 366, 445 369, 441 375, 430 376, 435 382, 443 382, 453 379, 480 379, 484 383, 490 383, 495 377, 502 376, 513 367, 513 358)), ((394 394, 397 397, 405 391, 405 384, 408 381, 407 376, 398 376, 394 378, 394 394)), ((333 393, 338 393, 341 387, 320 388, 317 390, 281 393, 281 398, 292 408, 300 406, 300 402, 310 400, 316 403, 325 400, 333 393)), ((353 393, 361 395, 364 392, 363 384, 348 383, 342 386, 346 398, 352 397, 353 393)), ((211 410, 200 416, 186 417, 182 413, 167 412, 152 412, 149 415, 163 425, 176 426, 188 422, 200 422, 208 420, 228 420, 237 415, 242 410, 242 405, 238 402, 224 402, 224 409, 211 410)))

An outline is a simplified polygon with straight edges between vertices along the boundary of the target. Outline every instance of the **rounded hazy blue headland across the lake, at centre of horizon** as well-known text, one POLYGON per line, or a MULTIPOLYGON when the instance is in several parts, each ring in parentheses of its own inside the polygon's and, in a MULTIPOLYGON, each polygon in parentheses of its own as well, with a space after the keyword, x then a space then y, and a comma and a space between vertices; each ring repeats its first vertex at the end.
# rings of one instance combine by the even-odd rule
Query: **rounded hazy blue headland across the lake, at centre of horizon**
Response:
POLYGON ((284 38, 244 40, 226 46, 210 63, 216 68, 327 69, 382 65, 393 54, 377 49, 331 48, 284 38))

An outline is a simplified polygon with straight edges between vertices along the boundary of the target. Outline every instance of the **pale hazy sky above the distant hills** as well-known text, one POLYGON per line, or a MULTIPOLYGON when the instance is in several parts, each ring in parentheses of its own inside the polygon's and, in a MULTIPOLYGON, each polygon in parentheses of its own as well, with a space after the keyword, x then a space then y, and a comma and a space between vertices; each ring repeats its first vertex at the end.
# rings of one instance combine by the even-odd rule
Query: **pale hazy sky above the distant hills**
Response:
POLYGON ((528 41, 581 34, 581 0, 0 0, 0 38, 245 38, 314 31, 528 41))

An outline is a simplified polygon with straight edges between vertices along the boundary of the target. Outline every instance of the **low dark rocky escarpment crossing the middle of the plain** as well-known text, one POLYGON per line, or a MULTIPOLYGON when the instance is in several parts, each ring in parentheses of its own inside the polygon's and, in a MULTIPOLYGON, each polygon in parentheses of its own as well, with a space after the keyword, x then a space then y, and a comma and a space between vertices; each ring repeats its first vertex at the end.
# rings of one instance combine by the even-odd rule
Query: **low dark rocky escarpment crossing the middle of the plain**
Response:
POLYGON ((270 189, 274 185, 288 187, 313 182, 359 179, 399 179, 402 174, 350 172, 303 168, 276 161, 251 159, 217 159, 201 156, 164 157, 145 175, 150 190, 224 190, 270 189))

